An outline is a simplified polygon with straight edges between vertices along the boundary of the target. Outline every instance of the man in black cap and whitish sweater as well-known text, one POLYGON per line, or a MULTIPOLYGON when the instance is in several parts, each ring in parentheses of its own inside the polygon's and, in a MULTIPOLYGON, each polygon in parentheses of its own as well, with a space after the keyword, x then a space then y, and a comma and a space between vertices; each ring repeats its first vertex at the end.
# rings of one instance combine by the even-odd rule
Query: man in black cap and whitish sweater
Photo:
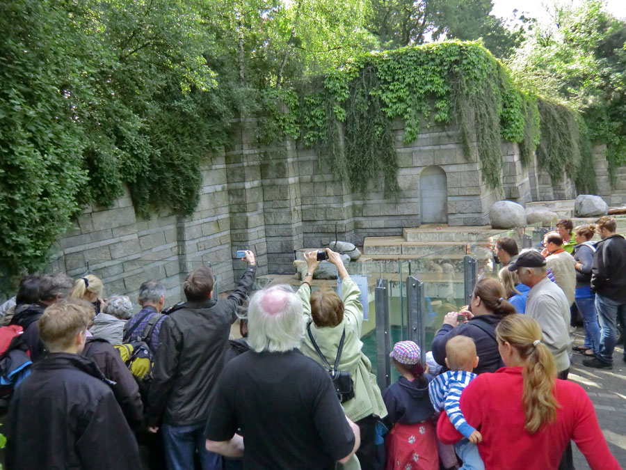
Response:
POLYGON ((563 290, 547 278, 545 264, 538 251, 527 250, 522 251, 508 269, 517 270, 520 282, 531 288, 526 315, 539 323, 543 343, 554 356, 559 379, 567 379, 570 371, 570 306, 563 290))

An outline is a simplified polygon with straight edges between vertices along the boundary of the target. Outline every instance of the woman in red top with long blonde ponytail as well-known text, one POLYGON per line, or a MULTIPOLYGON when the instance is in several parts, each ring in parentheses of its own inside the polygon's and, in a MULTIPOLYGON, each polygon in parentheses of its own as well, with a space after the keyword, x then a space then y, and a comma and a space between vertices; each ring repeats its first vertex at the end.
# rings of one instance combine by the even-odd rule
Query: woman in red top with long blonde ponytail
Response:
MULTIPOLYGON (((570 439, 592 470, 620 470, 584 389, 556 379, 539 324, 517 313, 502 319, 496 333, 506 367, 476 377, 460 398, 467 423, 483 435, 485 470, 557 469, 570 439)), ((438 436, 454 444, 463 436, 442 417, 438 436)))

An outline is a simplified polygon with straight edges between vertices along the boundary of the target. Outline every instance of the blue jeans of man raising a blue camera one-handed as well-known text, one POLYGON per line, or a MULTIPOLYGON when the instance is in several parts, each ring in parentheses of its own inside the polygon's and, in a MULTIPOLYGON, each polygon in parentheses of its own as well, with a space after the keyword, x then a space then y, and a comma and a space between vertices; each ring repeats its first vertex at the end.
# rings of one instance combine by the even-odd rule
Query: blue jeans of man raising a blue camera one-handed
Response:
POLYGON ((195 451, 198 451, 202 470, 222 470, 221 455, 207 451, 204 424, 188 426, 164 424, 161 430, 169 470, 193 469, 195 451))

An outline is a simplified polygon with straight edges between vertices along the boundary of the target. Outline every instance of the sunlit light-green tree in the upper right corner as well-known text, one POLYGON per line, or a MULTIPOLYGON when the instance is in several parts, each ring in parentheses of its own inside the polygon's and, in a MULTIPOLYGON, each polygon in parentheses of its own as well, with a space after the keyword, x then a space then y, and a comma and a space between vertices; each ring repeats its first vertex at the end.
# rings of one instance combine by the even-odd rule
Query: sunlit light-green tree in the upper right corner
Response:
POLYGON ((626 163, 626 22, 601 0, 555 7, 510 61, 517 82, 584 113, 593 141, 607 143, 609 169, 626 163))

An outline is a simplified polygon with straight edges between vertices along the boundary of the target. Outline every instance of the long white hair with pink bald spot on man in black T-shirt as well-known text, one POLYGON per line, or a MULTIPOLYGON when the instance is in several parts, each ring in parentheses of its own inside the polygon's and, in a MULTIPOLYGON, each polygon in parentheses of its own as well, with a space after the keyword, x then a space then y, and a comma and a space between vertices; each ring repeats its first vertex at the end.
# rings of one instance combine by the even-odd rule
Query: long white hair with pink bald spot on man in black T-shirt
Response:
POLYGON ((256 352, 285 352, 304 337, 302 301, 289 285, 259 290, 248 306, 248 344, 256 352))

